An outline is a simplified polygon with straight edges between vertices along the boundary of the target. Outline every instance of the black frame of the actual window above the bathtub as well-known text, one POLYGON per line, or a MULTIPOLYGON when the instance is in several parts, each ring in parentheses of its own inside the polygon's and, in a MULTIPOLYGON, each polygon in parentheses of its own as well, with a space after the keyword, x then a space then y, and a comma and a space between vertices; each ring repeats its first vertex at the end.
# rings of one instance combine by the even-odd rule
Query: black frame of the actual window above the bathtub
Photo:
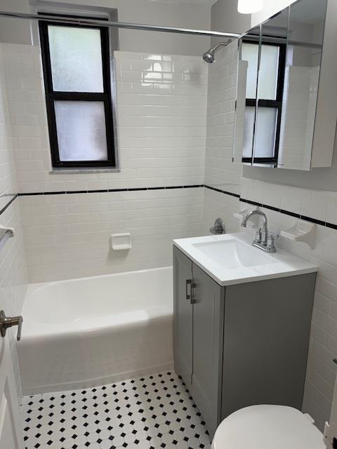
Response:
MULTIPOLYGON (((42 13, 41 13, 42 14, 42 13)), ((72 15, 55 15, 58 18, 72 18, 72 15)), ((107 20, 104 18, 84 17, 86 19, 107 20)), ((41 57, 44 72, 44 88, 46 98, 46 110, 48 117, 49 142, 51 146, 51 162, 53 168, 116 168, 116 155, 114 147, 114 121, 112 109, 111 74, 110 74, 110 34, 105 26, 84 26, 66 22, 52 22, 39 20, 39 35, 41 43, 41 57), (102 51, 103 93, 91 92, 65 92, 53 90, 53 78, 51 72, 51 54, 48 39, 48 25, 60 27, 77 27, 100 30, 100 44, 102 51), (107 160, 105 161, 60 161, 58 148, 58 132, 55 118, 55 100, 65 101, 100 101, 105 110, 105 132, 107 141, 107 160)))

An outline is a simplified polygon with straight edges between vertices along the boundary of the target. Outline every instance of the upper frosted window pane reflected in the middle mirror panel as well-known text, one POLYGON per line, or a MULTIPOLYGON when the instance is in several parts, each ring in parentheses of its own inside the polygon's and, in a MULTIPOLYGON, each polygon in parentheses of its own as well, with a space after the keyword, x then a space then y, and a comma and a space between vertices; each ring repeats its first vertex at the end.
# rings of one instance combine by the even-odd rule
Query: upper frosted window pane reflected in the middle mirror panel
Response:
POLYGON ((258 72, 258 98, 276 100, 277 74, 279 70, 279 47, 263 45, 260 71, 258 72))

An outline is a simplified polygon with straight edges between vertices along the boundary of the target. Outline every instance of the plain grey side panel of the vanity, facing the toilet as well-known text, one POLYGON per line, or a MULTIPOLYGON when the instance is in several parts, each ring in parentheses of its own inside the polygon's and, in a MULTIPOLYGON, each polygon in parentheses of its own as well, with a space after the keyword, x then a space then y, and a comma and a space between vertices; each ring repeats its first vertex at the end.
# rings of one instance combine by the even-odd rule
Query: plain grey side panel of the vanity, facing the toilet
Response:
POLYGON ((256 404, 302 407, 316 273, 228 286, 221 418, 256 404))

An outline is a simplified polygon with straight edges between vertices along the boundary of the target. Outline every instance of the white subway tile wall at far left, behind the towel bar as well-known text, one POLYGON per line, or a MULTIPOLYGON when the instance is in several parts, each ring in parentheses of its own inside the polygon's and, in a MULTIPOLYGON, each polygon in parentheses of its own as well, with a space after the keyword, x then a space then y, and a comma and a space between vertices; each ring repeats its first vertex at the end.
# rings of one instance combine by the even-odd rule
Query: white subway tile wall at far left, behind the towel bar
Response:
MULTIPOLYGON (((0 210, 8 205, 13 199, 13 194, 17 191, 11 145, 11 116, 8 112, 6 74, 3 64, 7 56, 8 47, 0 44, 0 210)), ((4 307, 8 316, 16 316, 21 312, 22 302, 27 290, 27 267, 23 250, 18 200, 14 200, 1 213, 0 225, 15 229, 15 236, 8 240, 0 253, 0 308, 4 307)), ((15 328, 8 330, 8 337, 10 338, 18 396, 21 396, 15 332, 15 328)))

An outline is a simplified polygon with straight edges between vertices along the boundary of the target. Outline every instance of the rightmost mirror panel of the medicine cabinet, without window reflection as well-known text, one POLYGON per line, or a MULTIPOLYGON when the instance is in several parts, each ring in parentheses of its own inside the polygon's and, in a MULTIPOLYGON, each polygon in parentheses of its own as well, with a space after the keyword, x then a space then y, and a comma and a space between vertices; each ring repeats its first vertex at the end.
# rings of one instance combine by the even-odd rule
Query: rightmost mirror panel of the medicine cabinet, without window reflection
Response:
POLYGON ((325 14, 326 0, 289 9, 279 168, 310 170, 325 14))

